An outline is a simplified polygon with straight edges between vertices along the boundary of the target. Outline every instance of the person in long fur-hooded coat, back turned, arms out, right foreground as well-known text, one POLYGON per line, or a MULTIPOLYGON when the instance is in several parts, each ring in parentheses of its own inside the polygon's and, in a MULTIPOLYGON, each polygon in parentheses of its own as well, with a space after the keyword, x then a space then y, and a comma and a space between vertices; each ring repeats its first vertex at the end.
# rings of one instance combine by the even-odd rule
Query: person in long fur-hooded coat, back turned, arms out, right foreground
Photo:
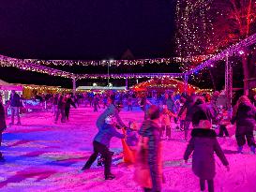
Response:
POLYGON ((187 163, 188 156, 193 152, 192 170, 200 178, 201 191, 205 190, 205 180, 207 180, 208 191, 214 192, 216 174, 214 153, 218 155, 227 170, 229 170, 229 163, 218 144, 217 134, 211 129, 212 125, 204 111, 196 111, 193 114, 192 124, 194 129, 184 154, 184 160, 187 163))

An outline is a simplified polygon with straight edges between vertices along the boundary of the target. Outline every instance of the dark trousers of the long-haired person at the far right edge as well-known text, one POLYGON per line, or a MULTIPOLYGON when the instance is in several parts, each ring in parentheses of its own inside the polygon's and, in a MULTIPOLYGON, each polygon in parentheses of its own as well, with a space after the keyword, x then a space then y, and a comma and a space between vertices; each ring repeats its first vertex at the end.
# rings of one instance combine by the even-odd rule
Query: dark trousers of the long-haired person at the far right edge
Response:
POLYGON ((253 128, 248 126, 236 126, 235 139, 239 147, 246 144, 246 138, 248 140, 248 146, 255 146, 255 140, 253 137, 253 128))

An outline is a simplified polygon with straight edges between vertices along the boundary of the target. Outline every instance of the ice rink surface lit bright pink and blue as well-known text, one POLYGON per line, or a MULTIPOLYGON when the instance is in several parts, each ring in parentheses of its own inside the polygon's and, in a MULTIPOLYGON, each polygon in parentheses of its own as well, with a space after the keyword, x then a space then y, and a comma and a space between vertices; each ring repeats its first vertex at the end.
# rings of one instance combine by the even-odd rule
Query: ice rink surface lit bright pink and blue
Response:
MULTIPOLYGON (((0 191, 142 191, 132 180, 133 168, 122 163, 118 156, 113 157, 112 172, 116 175, 113 181, 105 181, 103 168, 96 164, 91 170, 79 171, 91 155, 99 113, 91 108, 72 109, 68 123, 54 124, 53 113, 34 112, 22 117, 23 126, 8 127, 1 148, 6 162, 0 163, 0 191)), ((143 112, 138 109, 132 112, 125 109, 120 116, 127 124, 130 120, 143 121, 143 112)), ((198 178, 191 170, 191 159, 188 164, 183 161, 187 146, 183 134, 173 127, 173 140, 163 141, 166 184, 162 191, 200 191, 198 178)), ((234 136, 219 139, 219 143, 231 170, 227 172, 216 158, 216 191, 256 192, 256 155, 250 155, 248 147, 246 154, 236 154, 234 136)), ((111 150, 121 152, 121 141, 113 139, 111 150)))

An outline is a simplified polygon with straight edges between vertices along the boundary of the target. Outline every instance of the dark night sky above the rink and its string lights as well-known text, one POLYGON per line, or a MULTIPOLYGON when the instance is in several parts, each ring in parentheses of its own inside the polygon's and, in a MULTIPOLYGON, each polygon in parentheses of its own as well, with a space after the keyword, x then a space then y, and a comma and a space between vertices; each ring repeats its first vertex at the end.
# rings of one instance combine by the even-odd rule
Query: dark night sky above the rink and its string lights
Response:
MULTIPOLYGON (((135 58, 174 55, 171 0, 8 0, 0 4, 0 54, 3 55, 101 60, 120 59, 127 49, 135 58)), ((0 70, 0 79, 4 81, 71 85, 65 79, 14 68, 0 70)), ((103 68, 101 72, 104 71, 103 68)))

